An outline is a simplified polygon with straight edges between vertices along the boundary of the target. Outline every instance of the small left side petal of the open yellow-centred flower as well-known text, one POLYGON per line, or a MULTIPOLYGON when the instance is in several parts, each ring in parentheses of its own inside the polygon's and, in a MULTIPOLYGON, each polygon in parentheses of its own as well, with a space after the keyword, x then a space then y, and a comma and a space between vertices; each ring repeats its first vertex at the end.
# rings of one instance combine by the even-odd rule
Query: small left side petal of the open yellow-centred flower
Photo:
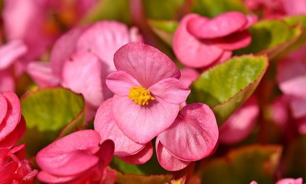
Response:
POLYGON ((141 86, 134 77, 122 71, 109 74, 106 78, 106 85, 114 94, 120 96, 128 96, 130 88, 141 86))

